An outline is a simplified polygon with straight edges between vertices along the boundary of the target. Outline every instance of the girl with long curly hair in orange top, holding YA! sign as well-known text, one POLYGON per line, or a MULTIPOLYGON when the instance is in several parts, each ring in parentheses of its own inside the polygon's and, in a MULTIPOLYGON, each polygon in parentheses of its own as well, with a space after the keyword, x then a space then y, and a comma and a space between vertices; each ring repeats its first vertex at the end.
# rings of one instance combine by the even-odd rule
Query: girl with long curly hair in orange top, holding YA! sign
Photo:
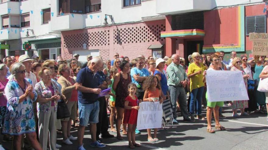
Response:
MULTIPOLYGON (((144 102, 163 102, 163 98, 161 97, 161 86, 159 80, 151 75, 149 76, 143 83, 143 89, 145 91, 143 96, 144 102)), ((148 142, 157 142, 159 139, 157 138, 157 128, 154 129, 152 138, 151 129, 147 129, 148 133, 148 142)))

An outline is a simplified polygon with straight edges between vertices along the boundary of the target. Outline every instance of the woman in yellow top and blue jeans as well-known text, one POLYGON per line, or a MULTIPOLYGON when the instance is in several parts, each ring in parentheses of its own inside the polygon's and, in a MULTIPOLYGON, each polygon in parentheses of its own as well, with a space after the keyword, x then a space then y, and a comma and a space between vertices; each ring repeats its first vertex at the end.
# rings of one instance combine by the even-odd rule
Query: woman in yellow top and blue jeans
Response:
POLYGON ((202 97, 205 84, 203 83, 203 72, 206 67, 200 63, 201 55, 198 52, 192 53, 192 62, 188 67, 188 78, 190 79, 191 101, 190 101, 190 115, 194 120, 195 103, 197 100, 197 119, 205 120, 202 116, 202 97))

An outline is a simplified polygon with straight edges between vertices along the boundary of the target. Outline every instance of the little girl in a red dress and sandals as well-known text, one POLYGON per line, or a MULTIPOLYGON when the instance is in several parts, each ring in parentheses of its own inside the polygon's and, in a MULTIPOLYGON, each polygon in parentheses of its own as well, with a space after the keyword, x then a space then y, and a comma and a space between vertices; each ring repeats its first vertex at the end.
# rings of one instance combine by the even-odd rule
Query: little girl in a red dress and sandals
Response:
POLYGON ((137 126, 138 110, 139 110, 139 100, 135 96, 137 86, 134 83, 128 85, 129 96, 125 98, 125 112, 123 123, 128 124, 128 140, 129 148, 140 147, 140 144, 135 142, 135 130, 137 126))

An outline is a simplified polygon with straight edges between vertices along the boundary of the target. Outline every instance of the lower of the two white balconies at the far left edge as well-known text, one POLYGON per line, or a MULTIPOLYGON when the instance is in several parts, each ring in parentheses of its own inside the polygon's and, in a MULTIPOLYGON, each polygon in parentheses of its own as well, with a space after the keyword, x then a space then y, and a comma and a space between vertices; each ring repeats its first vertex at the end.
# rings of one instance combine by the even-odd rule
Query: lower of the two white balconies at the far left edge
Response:
POLYGON ((19 28, 4 28, 0 30, 0 41, 14 40, 20 38, 19 28))

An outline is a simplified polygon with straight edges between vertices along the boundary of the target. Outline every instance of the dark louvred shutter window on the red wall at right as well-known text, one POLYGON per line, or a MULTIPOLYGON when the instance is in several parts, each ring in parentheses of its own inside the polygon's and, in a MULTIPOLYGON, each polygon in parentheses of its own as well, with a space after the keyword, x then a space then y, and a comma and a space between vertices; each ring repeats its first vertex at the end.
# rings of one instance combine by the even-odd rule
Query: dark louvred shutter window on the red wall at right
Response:
POLYGON ((251 32, 266 33, 266 15, 246 17, 246 35, 251 32))

